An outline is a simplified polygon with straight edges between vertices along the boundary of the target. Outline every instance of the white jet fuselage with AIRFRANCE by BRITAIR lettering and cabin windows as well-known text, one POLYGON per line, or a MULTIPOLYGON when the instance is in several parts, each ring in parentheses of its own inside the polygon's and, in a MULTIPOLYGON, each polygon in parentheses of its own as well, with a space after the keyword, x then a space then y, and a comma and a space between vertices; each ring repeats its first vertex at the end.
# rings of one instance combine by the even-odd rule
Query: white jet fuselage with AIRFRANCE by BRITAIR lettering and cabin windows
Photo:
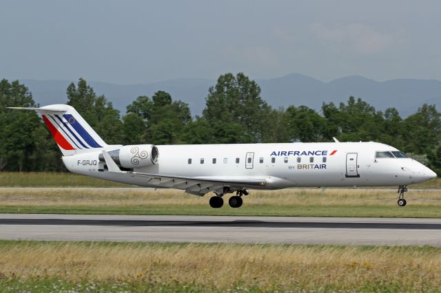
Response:
MULTIPOLYGON (((115 146, 107 149, 112 148, 115 146)), ((268 184, 254 188, 266 189, 398 186, 436 177, 433 171, 411 158, 376 158, 376 151, 398 151, 376 142, 158 145, 157 148, 158 164, 133 171, 225 180, 265 177, 268 184)), ((73 173, 150 186, 139 177, 119 177, 99 171, 99 153, 64 156, 63 162, 73 173)))

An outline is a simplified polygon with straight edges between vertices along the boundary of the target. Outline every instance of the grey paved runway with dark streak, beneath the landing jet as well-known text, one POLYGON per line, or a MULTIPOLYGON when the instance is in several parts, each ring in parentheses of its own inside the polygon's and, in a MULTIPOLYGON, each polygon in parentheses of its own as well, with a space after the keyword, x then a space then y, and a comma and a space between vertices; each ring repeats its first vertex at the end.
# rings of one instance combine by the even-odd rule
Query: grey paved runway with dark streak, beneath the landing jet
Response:
POLYGON ((0 214, 0 239, 441 247, 441 219, 0 214))

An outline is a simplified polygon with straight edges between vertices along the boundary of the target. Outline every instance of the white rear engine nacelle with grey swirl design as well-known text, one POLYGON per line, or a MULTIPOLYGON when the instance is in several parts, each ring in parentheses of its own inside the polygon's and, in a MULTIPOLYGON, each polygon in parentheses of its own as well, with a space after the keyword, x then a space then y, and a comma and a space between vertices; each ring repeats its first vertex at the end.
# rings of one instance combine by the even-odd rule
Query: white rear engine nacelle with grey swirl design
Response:
MULTIPOLYGON (((116 164, 127 169, 140 168, 158 164, 158 148, 153 144, 133 144, 121 146, 119 149, 108 152, 116 164)), ((99 160, 105 162, 101 153, 99 160)))

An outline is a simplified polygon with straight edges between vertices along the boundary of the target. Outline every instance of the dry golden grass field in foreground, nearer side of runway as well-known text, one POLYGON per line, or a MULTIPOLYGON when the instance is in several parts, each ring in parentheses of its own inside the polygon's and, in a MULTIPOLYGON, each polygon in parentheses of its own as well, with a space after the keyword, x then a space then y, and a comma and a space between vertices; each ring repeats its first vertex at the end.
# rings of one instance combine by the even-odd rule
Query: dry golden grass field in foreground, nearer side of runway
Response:
POLYGON ((440 268, 428 247, 0 241, 3 291, 439 292, 440 268))

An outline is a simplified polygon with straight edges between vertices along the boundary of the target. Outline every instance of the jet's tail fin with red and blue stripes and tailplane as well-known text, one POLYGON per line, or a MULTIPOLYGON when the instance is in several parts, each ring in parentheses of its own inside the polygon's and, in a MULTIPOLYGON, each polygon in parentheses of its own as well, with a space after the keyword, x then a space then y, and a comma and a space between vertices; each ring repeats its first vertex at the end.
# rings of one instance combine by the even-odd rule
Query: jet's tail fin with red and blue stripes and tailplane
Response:
POLYGON ((10 107, 10 109, 33 110, 41 114, 63 155, 74 155, 107 146, 88 122, 85 122, 74 107, 69 105, 48 105, 41 108, 10 107))

